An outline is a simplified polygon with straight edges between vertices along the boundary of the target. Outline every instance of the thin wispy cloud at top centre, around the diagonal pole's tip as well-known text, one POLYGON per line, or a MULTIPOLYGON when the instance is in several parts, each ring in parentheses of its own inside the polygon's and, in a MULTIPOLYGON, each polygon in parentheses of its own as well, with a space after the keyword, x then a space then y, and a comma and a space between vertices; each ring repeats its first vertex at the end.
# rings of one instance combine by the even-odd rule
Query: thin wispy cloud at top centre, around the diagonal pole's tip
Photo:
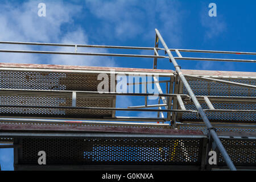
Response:
POLYGON ((145 40, 152 40, 155 28, 170 46, 181 44, 181 21, 183 10, 179 1, 94 1, 85 0, 90 13, 100 20, 101 34, 106 38, 126 40, 141 36, 145 40), (109 28, 109 27, 113 28, 109 28))

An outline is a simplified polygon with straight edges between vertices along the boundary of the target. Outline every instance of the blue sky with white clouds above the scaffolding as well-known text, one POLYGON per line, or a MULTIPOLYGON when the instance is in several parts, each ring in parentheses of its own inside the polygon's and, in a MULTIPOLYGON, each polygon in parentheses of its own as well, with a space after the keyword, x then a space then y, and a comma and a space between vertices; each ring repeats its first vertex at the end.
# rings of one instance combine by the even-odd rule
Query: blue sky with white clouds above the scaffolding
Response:
MULTIPOLYGON (((77 43, 153 47, 158 28, 169 48, 211 49, 256 52, 256 1, 172 1, 172 0, 71 0, 1 1, 0 40, 19 42, 77 43), (46 17, 38 16, 38 3, 46 3, 46 17), (208 5, 217 5, 217 16, 209 17, 208 5)), ((0 49, 44 49, 0 45, 0 49)), ((152 54, 151 51, 89 49, 79 51, 152 54)), ((182 53, 208 56, 207 53, 182 53)), ((255 56, 222 55, 230 59, 255 56)), ((152 59, 123 57, 81 57, 0 53, 1 63, 37 63, 152 68, 152 59)), ((255 72, 251 63, 178 61, 182 69, 255 72)), ((174 69, 168 60, 158 61, 159 69, 174 69)), ((126 101, 135 104, 133 101, 126 101)), ((140 104, 141 105, 141 104, 140 104)), ((13 169, 12 150, 0 150, 2 169, 13 169)))

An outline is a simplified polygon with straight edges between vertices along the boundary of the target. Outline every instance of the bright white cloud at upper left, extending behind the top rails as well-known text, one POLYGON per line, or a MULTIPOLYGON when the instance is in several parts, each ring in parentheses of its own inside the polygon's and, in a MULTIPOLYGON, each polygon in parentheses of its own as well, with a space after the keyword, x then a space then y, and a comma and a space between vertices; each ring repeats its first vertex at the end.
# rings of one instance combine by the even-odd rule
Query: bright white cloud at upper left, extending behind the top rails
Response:
MULTIPOLYGON (((47 42, 88 44, 88 37, 74 19, 82 13, 81 5, 63 1, 44 1, 46 17, 38 16, 38 3, 26 1, 22 4, 11 4, 6 1, 0 7, 0 40, 13 42, 47 42)), ((0 49, 33 49, 32 46, 0 44, 0 49)), ((68 51, 63 47, 43 47, 49 51, 68 51)), ((82 51, 96 52, 96 49, 82 51)), ((95 56, 36 55, 27 53, 0 53, 2 63, 43 63, 68 65, 101 65, 113 66, 113 59, 102 59, 95 56), (104 60, 101 61, 100 60, 104 60)))

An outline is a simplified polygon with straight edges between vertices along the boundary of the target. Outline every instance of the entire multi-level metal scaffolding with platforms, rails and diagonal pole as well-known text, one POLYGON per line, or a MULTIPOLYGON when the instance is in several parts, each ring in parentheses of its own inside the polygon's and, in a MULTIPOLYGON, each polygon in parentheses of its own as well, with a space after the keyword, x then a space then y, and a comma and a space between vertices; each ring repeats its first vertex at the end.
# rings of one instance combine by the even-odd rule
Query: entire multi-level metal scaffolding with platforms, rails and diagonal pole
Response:
POLYGON ((0 42, 75 48, 0 52, 153 59, 153 69, 0 63, 0 142, 10 143, 0 147, 14 148, 15 169, 256 169, 256 73, 181 70, 176 62, 255 63, 183 57, 181 52, 256 53, 169 49, 155 32, 155 47, 0 42), (151 50, 154 55, 78 52, 79 47, 151 50), (158 59, 170 60, 175 71, 157 69, 158 59), (127 83, 145 85, 144 93, 116 92, 109 81, 102 93, 97 89, 101 73, 114 78, 150 75, 153 81, 127 83), (147 104, 148 97, 155 96, 148 93, 148 84, 158 89, 158 104, 147 104), (117 96, 144 97, 144 105, 115 107, 121 102, 117 96), (121 117, 116 111, 155 112, 157 117, 121 117), (40 150, 48 151, 50 165, 37 164, 40 150), (217 165, 208 163, 210 150, 217 152, 217 165))

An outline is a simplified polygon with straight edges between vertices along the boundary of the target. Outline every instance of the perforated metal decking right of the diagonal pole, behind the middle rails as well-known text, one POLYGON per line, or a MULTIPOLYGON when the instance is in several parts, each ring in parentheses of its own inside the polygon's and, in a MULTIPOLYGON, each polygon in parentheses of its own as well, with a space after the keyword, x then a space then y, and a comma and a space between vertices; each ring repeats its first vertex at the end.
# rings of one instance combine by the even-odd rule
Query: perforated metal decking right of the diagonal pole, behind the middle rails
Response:
MULTIPOLYGON (((243 84, 256 85, 254 79, 247 78, 222 78, 221 80, 239 82, 243 84)), ((237 96, 237 97, 255 97, 256 90, 249 89, 241 86, 232 86, 222 84, 219 82, 204 81, 196 78, 187 78, 189 85, 196 96, 237 96)), ((188 94, 187 90, 183 86, 182 93, 188 94)), ((214 109, 228 109, 228 110, 256 110, 256 104, 242 103, 242 102, 228 102, 211 101, 214 109)), ((205 102, 200 102, 203 109, 209 109, 205 102)), ((192 102, 185 102, 185 108, 187 110, 196 110, 195 105, 192 102)), ((238 112, 206 112, 209 121, 211 122, 232 122, 232 123, 255 123, 255 113, 238 113, 238 112)), ((197 117, 196 113, 182 113, 177 121, 202 121, 197 117)))

